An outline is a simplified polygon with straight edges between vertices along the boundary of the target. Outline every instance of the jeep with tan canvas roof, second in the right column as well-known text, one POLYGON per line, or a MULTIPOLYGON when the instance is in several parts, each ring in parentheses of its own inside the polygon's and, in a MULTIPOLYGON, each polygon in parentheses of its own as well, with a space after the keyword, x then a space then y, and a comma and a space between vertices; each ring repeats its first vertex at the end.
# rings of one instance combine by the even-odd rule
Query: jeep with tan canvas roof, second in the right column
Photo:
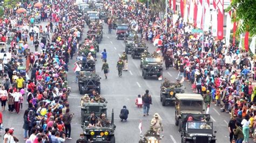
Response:
POLYGON ((183 114, 203 114, 203 103, 204 100, 200 94, 176 94, 175 125, 179 126, 179 132, 183 123, 183 114))

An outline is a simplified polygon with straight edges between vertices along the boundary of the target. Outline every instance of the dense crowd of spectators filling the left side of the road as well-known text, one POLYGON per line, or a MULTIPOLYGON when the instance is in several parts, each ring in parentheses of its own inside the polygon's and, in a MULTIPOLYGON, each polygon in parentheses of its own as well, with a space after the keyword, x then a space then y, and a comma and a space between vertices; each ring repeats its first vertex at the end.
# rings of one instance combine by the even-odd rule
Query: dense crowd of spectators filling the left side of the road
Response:
MULTIPOLYGON (((43 3, 38 9, 26 4, 19 8, 22 6, 28 10, 27 13, 18 15, 15 11, 6 10, 6 15, 10 17, 1 21, 2 41, 12 28, 17 30, 14 32, 14 38, 9 39, 10 48, 7 51, 11 58, 5 54, 1 66, 2 111, 5 111, 6 104, 10 113, 25 110, 25 142, 71 140, 73 114, 68 102, 70 88, 67 72, 69 59, 75 54, 80 33, 83 33, 83 16, 78 15, 78 8, 72 2, 43 3), (48 23, 45 27, 35 23, 33 13, 38 12, 41 13, 41 20, 48 23), (29 41, 35 46, 35 52, 31 52, 34 46, 29 47, 29 41), (26 71, 19 69, 23 65, 23 55, 18 51, 22 48, 26 71), (28 73, 31 73, 31 76, 28 73), (28 108, 23 103, 27 103, 28 108)), ((0 124, 2 123, 1 113, 0 124)), ((18 141, 14 128, 5 128, 3 138, 4 143, 18 141)))

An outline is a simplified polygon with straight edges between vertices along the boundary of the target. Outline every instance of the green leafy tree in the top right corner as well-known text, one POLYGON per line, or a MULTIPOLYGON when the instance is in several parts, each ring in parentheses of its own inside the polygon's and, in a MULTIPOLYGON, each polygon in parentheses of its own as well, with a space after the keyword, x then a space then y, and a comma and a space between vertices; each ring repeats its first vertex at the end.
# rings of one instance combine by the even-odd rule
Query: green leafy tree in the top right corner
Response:
POLYGON ((225 10, 226 12, 232 11, 233 22, 239 22, 238 34, 246 31, 250 32, 251 36, 256 34, 256 1, 255 0, 232 0, 230 6, 225 10))

